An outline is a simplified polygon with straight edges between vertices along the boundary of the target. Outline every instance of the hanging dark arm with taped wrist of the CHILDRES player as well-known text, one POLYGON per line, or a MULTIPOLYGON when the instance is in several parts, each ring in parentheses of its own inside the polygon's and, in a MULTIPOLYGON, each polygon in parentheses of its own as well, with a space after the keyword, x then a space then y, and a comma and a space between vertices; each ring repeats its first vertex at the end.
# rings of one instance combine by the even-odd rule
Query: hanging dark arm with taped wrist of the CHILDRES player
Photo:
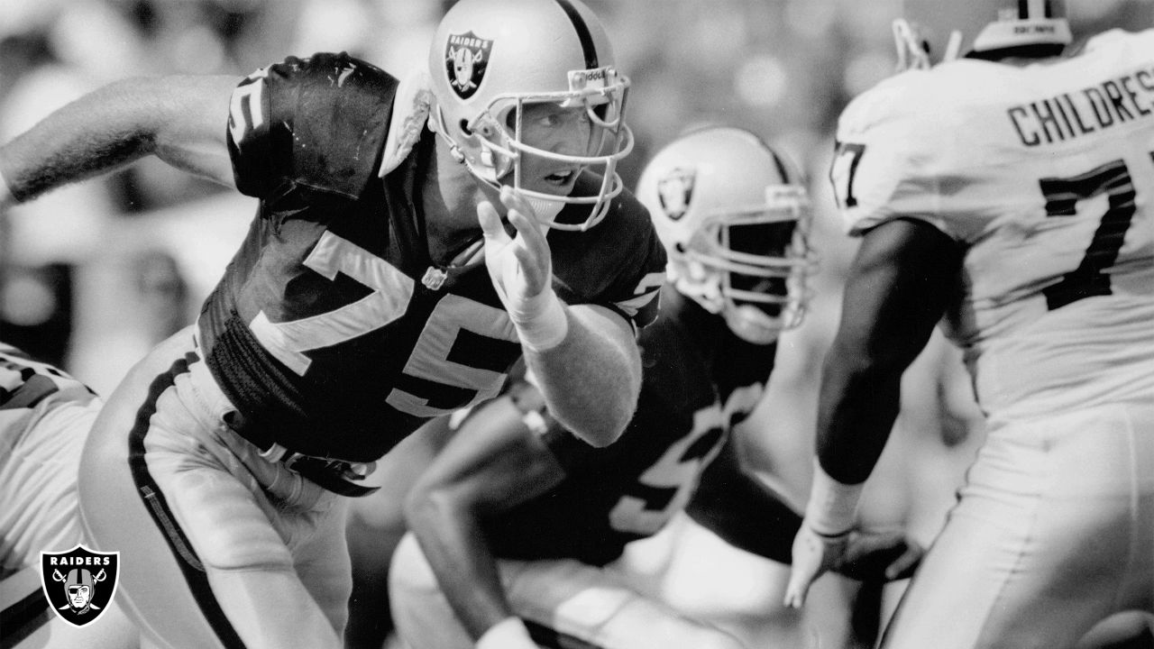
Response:
POLYGON ((953 239, 902 218, 874 227, 857 248, 822 368, 817 457, 787 606, 802 606, 809 585, 846 558, 862 486, 898 416, 901 375, 960 290, 961 258, 953 239))

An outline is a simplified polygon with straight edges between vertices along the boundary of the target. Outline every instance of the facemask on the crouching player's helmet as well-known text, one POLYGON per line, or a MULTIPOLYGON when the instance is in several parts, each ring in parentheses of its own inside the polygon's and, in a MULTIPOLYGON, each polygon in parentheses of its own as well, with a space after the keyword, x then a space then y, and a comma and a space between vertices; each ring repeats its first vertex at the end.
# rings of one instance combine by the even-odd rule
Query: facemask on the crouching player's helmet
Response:
POLYGON ((705 216, 670 251, 676 288, 747 342, 769 344, 801 324, 816 267, 809 248, 810 206, 800 187, 766 188, 764 206, 705 216))

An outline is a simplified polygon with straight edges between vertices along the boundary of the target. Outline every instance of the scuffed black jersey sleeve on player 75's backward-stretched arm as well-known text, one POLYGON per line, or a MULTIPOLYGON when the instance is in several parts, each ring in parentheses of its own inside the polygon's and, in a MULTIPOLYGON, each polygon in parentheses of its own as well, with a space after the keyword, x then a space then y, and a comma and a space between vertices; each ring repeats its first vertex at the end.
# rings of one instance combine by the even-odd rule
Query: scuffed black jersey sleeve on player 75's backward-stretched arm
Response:
POLYGON ((358 196, 380 164, 396 85, 344 53, 290 57, 248 75, 228 107, 237 188, 258 199, 286 184, 358 196))

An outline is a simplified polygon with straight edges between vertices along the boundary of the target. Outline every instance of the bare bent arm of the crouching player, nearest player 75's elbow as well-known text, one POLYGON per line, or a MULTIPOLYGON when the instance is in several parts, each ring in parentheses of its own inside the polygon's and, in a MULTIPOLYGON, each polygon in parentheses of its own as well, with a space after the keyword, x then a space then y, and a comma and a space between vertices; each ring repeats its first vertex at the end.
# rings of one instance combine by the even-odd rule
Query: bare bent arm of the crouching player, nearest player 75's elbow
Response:
POLYGON ((410 529, 474 640, 514 616, 484 522, 562 479, 564 469, 502 396, 462 424, 410 492, 410 529))

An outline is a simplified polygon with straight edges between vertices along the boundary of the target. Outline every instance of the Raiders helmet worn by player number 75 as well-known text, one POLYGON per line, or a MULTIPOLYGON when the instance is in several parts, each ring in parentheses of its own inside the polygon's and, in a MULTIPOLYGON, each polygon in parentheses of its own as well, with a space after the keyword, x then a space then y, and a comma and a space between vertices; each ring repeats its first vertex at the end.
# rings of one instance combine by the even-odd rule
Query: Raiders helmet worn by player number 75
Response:
POLYGON ((473 176, 494 187, 518 188, 550 227, 587 230, 605 217, 623 188, 617 161, 634 147, 623 118, 629 79, 614 67, 605 29, 585 5, 460 0, 436 30, 428 65, 436 99, 430 124, 473 176), (522 142, 522 111, 532 103, 584 106, 592 126, 586 155, 522 142), (600 187, 586 196, 525 189, 520 162, 526 155, 591 167, 601 174, 600 187), (550 215, 564 203, 591 206, 589 218, 556 223, 550 215))

